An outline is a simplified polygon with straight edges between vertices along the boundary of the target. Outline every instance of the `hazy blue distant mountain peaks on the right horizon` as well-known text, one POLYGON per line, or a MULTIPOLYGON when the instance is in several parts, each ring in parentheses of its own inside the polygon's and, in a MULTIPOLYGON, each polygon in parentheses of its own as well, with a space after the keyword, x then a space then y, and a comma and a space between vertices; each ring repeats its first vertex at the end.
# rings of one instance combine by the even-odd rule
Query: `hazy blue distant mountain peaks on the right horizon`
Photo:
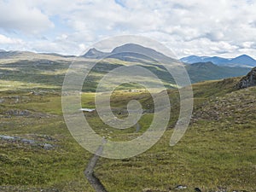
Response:
POLYGON ((248 55, 240 55, 236 58, 223 58, 218 56, 197 56, 190 55, 180 59, 186 64, 192 64, 196 62, 212 62, 218 66, 227 67, 256 67, 256 60, 248 55))

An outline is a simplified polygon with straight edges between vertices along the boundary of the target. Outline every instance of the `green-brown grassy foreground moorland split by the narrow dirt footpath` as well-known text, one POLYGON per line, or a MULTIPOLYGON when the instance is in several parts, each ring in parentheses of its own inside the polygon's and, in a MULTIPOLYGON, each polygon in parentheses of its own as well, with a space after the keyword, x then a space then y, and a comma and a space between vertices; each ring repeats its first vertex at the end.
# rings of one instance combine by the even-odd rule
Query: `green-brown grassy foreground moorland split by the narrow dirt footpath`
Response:
MULTIPOLYGON (((4 67, 7 65, 10 63, 4 67)), ((51 71, 59 73, 60 70, 51 71)), ((19 74, 21 71, 23 69, 18 68, 19 74)), ((36 69, 36 75, 38 71, 36 69)), ((9 77, 14 76, 15 73, 9 77)), ((93 191, 83 174, 92 154, 74 141, 61 115, 58 87, 61 81, 52 84, 55 82, 52 79, 47 83, 37 78, 40 82, 28 84, 28 80, 8 80, 11 84, 3 80, 0 92, 0 135, 32 139, 38 144, 0 139, 0 190, 93 191), (43 148, 44 143, 53 148, 43 148)), ((116 192, 175 191, 177 184, 188 186, 183 191, 194 191, 195 187, 202 191, 255 191, 256 88, 236 90, 238 80, 193 85, 193 119, 189 130, 174 147, 169 146, 169 140, 177 119, 178 92, 169 90, 173 116, 160 141, 130 159, 100 159, 96 176, 108 191, 116 192)), ((112 96, 112 107, 116 109, 113 112, 119 115, 119 110, 125 110, 131 99, 137 99, 148 109, 140 120, 139 132, 135 127, 125 131, 111 129, 102 124, 96 112, 86 113, 86 119, 97 133, 108 139, 137 137, 148 128, 154 105, 147 91, 116 90, 112 96)), ((94 94, 84 93, 82 105, 94 108, 94 94)))

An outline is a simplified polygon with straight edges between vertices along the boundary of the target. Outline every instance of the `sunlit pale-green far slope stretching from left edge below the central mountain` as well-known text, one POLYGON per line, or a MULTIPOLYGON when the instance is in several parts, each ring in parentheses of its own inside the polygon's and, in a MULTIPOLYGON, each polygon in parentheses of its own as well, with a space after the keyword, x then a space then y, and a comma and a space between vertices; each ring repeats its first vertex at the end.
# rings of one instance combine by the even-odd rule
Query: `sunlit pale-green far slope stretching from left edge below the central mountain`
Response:
MULTIPOLYGON (((1 90, 32 90, 50 88, 61 90, 62 82, 67 73, 67 69, 73 61, 80 61, 84 66, 89 65, 94 60, 84 58, 49 57, 29 58, 27 56, 17 58, 2 59, 0 61, 0 88, 1 90)), ((154 65, 152 62, 128 62, 109 58, 99 61, 91 69, 86 78, 84 91, 95 91, 98 81, 103 75, 114 68, 137 64, 145 67, 158 76, 167 88, 175 86, 169 73, 161 65, 154 65)), ((154 86, 154 81, 152 82, 154 86)), ((157 84, 156 84, 157 86, 157 84)), ((126 84, 126 88, 134 88, 133 84, 126 84)))

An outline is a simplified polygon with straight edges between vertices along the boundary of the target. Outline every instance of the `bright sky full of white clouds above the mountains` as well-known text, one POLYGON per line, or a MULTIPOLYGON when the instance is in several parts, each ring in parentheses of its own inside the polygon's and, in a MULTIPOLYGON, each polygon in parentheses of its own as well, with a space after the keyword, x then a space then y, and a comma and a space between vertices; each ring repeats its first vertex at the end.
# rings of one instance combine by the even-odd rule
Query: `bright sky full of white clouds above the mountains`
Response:
POLYGON ((119 35, 177 57, 256 58, 256 0, 0 0, 0 49, 80 55, 119 35))

